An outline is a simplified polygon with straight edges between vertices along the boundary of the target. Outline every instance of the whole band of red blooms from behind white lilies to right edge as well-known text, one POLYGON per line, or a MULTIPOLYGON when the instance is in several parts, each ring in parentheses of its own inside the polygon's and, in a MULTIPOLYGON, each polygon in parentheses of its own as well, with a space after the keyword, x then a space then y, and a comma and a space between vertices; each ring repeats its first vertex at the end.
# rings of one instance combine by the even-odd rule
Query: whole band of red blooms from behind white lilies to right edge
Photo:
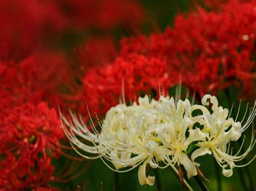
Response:
POLYGON ((255 9, 255 1, 230 1, 218 13, 198 8, 177 16, 163 33, 123 38, 112 64, 84 75, 80 111, 87 103, 90 112, 104 114, 122 96, 123 80, 126 100, 180 79, 199 96, 240 83, 250 93, 256 77, 255 9))

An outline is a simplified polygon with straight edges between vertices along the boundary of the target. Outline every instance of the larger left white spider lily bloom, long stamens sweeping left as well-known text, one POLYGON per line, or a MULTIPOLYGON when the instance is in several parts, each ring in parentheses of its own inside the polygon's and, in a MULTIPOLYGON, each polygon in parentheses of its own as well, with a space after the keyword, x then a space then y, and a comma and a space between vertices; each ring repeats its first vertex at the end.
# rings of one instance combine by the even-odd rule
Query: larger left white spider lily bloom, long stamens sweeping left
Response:
POLYGON ((72 121, 68 121, 61 115, 65 124, 64 132, 78 154, 87 159, 102 158, 113 171, 126 172, 143 162, 138 171, 142 185, 154 184, 154 177, 146 176, 147 164, 152 168, 182 164, 189 178, 196 175, 195 165, 184 153, 190 143, 197 140, 196 131, 190 133, 188 139, 185 137, 188 126, 193 123, 186 113, 190 102, 179 100, 177 103, 169 97, 150 102, 149 97, 145 96, 140 97, 138 103, 131 106, 119 104, 111 108, 103 123, 99 123, 102 129, 100 132, 93 124, 90 132, 82 117, 79 121, 71 113, 72 121), (69 130, 66 126, 69 126, 69 130), (79 137, 91 144, 82 142, 79 137), (77 148, 97 155, 85 155, 77 148), (109 166, 104 159, 112 162, 115 168, 109 166), (159 166, 159 161, 164 161, 165 166, 159 166), (127 166, 131 168, 120 170, 127 166))

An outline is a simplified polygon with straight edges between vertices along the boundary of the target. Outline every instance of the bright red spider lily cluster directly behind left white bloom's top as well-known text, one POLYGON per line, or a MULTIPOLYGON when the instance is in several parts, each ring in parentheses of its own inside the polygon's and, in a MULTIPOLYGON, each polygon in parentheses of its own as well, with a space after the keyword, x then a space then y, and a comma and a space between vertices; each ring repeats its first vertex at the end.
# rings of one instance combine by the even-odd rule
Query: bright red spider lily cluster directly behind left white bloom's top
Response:
POLYGON ((158 58, 130 54, 127 58, 117 58, 112 65, 92 68, 84 76, 82 107, 80 111, 105 114, 109 108, 118 104, 125 89, 125 98, 135 101, 139 95, 156 93, 159 87, 168 89, 177 83, 177 76, 169 76, 167 63, 158 58))

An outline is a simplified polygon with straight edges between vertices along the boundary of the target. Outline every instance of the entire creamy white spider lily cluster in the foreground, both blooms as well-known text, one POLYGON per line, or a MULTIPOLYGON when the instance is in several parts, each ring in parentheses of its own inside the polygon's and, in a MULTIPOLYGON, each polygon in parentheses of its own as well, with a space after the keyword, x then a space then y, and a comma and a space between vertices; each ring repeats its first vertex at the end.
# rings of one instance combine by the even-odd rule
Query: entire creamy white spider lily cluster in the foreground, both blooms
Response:
POLYGON ((62 116, 63 127, 72 147, 84 158, 101 158, 116 172, 127 172, 140 165, 138 178, 141 185, 154 184, 154 176, 146 176, 147 164, 152 168, 183 165, 191 178, 197 175, 196 167, 200 165, 195 159, 205 154, 213 154, 223 168, 223 175, 231 176, 234 167, 245 166, 235 162, 244 159, 255 144, 253 132, 250 146, 244 153, 240 153, 241 148, 235 154, 230 149, 231 141, 238 140, 252 123, 255 104, 247 121, 241 125, 244 119, 240 123, 230 118, 227 109, 218 107, 215 96, 205 95, 201 102, 203 105, 191 105, 187 99, 160 97, 156 101, 145 96, 139 98, 138 104, 119 104, 111 108, 104 121, 99 123, 100 132, 93 124, 89 130, 82 118, 78 120, 73 114, 72 121, 62 116), (209 101, 211 112, 205 107, 209 101), (193 116, 194 112, 199 114, 193 116), (85 155, 78 148, 90 154, 85 155), (125 169, 122 171, 121 168, 125 169))

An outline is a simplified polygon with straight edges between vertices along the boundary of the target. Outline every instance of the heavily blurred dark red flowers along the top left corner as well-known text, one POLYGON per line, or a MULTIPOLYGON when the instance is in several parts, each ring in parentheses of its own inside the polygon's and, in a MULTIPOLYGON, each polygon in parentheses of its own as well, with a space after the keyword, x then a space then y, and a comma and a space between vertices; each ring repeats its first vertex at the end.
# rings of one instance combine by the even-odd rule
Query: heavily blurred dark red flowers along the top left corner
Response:
POLYGON ((2 0, 0 12, 0 60, 19 60, 67 31, 137 26, 144 11, 132 1, 2 0))

